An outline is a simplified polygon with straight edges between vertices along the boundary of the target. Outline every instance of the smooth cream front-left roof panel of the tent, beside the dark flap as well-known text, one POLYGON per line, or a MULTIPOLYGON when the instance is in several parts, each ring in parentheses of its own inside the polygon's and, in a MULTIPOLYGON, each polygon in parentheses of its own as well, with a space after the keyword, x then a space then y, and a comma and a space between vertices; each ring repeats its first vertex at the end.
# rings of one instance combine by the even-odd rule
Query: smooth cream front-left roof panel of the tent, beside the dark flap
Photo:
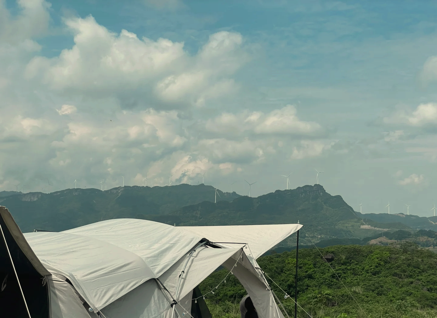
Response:
POLYGON ((141 257, 118 246, 72 233, 26 233, 35 254, 72 282, 95 311, 154 277, 141 257))

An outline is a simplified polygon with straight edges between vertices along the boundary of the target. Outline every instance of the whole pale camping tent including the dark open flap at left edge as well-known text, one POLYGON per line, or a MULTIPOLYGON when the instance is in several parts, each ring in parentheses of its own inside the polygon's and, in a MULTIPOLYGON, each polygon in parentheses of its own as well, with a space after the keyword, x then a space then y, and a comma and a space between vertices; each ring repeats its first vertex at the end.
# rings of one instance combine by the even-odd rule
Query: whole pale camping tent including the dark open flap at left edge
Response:
POLYGON ((113 219, 23 235, 6 208, 0 216, 0 306, 31 318, 207 318, 198 284, 221 265, 260 318, 283 318, 256 260, 302 226, 113 219))

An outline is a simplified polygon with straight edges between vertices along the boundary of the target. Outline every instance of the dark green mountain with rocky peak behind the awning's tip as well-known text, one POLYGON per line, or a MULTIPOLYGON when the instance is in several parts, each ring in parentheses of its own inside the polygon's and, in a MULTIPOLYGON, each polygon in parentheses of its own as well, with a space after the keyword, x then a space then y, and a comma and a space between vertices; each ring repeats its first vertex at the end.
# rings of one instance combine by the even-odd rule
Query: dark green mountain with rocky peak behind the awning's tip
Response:
POLYGON ((201 202, 155 218, 177 225, 281 224, 300 222, 307 227, 359 227, 361 217, 340 195, 330 195, 321 185, 277 190, 257 198, 242 196, 232 202, 201 202))

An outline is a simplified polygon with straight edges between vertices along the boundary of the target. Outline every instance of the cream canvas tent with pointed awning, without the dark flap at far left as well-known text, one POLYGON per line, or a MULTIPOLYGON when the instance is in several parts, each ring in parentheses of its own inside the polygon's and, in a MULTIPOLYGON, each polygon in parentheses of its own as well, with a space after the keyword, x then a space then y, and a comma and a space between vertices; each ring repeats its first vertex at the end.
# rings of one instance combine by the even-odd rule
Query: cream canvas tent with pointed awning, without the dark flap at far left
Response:
MULTIPOLYGON (((172 297, 180 302, 177 311, 188 313, 193 288, 220 265, 232 269, 241 255, 233 274, 250 294, 259 317, 283 318, 256 259, 300 228, 300 224, 175 227, 114 219, 60 233, 27 233, 25 238, 47 270, 67 277, 90 307, 107 318, 171 317, 172 297), (202 238, 222 248, 198 247, 202 238), (172 296, 161 290, 156 279, 172 296)), ((56 284, 70 297, 68 283, 56 284)), ((62 306, 76 306, 74 296, 73 302, 62 306)))

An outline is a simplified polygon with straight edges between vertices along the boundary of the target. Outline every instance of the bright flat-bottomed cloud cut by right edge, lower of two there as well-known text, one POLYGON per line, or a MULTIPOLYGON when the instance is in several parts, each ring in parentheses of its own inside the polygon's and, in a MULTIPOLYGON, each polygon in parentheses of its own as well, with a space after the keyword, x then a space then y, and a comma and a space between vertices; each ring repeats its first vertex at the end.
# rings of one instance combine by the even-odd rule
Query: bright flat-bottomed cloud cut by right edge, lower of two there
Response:
POLYGON ((387 124, 404 124, 413 127, 423 127, 427 124, 437 123, 437 104, 420 104, 413 111, 399 110, 392 116, 383 118, 387 124))

